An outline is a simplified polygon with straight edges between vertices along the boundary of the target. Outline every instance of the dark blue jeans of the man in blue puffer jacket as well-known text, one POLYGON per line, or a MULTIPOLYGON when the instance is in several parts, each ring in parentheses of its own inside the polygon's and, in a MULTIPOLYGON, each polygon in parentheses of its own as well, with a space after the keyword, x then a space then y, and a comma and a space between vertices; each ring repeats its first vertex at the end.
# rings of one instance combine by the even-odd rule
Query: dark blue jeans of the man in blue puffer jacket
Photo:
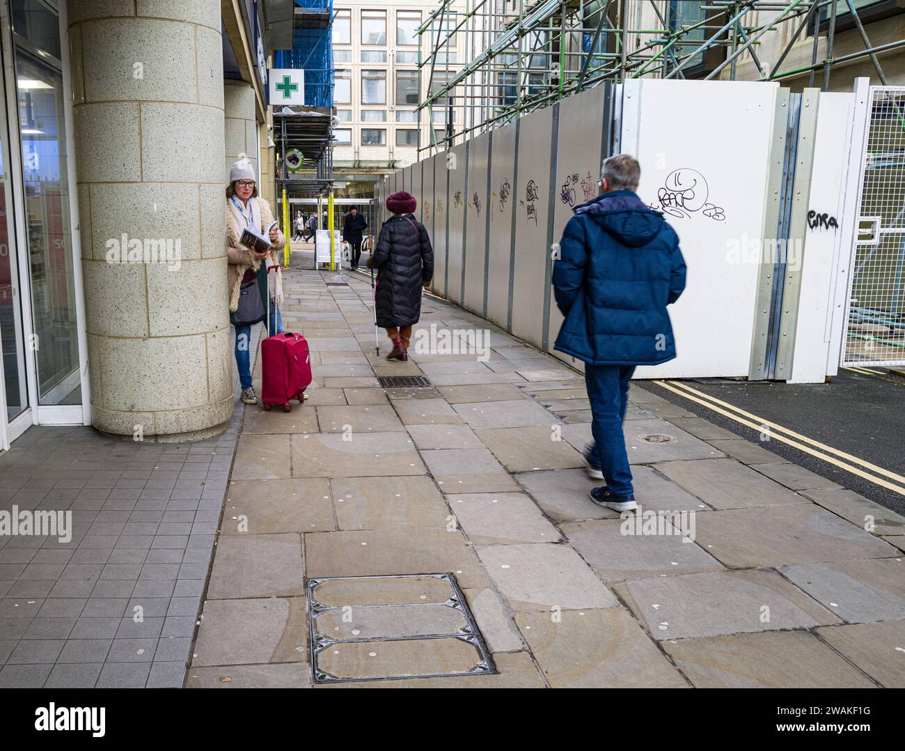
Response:
POLYGON ((586 365, 585 383, 591 401, 594 451, 606 486, 616 496, 632 496, 632 470, 622 431, 628 406, 633 365, 586 365))

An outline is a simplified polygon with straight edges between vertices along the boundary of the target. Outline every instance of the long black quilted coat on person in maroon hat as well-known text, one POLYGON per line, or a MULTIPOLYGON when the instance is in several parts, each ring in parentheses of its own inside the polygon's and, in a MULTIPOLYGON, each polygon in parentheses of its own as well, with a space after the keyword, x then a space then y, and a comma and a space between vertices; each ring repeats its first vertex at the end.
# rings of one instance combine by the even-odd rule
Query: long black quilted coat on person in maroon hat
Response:
POLYGON ((370 265, 377 269, 377 325, 418 323, 421 287, 433 278, 433 247, 424 225, 411 214, 387 219, 370 265))

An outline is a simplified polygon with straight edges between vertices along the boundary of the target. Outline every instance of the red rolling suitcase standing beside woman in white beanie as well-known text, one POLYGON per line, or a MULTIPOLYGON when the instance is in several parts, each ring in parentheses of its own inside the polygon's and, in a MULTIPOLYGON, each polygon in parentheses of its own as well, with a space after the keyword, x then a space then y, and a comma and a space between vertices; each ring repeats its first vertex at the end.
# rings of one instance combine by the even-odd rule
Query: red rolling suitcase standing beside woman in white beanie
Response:
MULTIPOLYGON (((267 307, 267 331, 270 332, 270 305, 267 307)), ((310 354, 305 337, 292 332, 269 336, 261 342, 261 358, 263 408, 270 411, 276 404, 289 412, 292 409, 290 400, 304 403, 305 389, 311 383, 310 354)))

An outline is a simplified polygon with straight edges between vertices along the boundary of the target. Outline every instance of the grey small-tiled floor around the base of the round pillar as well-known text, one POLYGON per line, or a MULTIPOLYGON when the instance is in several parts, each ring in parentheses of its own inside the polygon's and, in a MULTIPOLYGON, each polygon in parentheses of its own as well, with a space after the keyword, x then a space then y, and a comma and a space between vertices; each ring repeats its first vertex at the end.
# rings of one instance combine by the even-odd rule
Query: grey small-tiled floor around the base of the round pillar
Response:
POLYGON ((209 440, 33 427, 0 457, 0 507, 72 512, 67 544, 0 536, 0 688, 183 685, 238 408, 209 440))

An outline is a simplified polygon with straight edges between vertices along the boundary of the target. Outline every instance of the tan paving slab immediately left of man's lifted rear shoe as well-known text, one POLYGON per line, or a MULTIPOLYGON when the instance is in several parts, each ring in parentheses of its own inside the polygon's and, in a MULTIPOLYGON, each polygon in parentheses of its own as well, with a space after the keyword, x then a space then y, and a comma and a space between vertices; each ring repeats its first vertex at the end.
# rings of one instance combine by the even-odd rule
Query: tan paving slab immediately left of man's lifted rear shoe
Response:
MULTIPOLYGON (((499 402, 500 404, 504 402, 499 402)), ((557 426, 529 428, 493 428, 476 430, 478 438, 491 449, 510 472, 538 469, 584 467, 585 457, 567 441, 557 439, 557 426)))

